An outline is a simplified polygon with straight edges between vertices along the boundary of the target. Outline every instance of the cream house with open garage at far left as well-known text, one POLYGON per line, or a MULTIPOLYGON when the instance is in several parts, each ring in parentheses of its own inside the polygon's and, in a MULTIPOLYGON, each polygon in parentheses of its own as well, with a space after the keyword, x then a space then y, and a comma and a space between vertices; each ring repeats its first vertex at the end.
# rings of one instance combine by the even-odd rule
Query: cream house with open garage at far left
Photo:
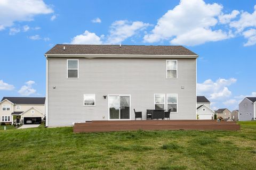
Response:
POLYGON ((45 116, 45 97, 3 97, 0 102, 0 122, 41 123, 45 116))

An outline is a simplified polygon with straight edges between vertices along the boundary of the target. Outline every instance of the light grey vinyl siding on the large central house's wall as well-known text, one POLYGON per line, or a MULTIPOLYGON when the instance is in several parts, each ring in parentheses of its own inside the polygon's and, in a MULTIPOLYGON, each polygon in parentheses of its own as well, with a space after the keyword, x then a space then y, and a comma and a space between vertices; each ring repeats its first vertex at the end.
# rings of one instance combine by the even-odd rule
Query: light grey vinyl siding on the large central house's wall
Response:
POLYGON ((79 58, 79 79, 67 79, 67 59, 48 58, 49 126, 108 120, 108 97, 102 96, 113 94, 131 95, 131 120, 133 109, 146 119, 154 94, 178 94, 171 119, 196 119, 196 59, 177 59, 178 79, 166 79, 164 58, 79 58), (84 106, 84 94, 95 94, 96 105, 84 106))

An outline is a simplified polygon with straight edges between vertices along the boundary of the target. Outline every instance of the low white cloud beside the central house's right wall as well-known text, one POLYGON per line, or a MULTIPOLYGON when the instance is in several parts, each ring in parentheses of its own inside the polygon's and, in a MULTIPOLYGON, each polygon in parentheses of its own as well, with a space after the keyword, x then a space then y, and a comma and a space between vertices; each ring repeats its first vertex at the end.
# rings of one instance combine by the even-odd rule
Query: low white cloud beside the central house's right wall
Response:
POLYGON ((236 81, 235 78, 218 79, 215 82, 211 79, 205 80, 203 83, 197 83, 197 95, 205 95, 213 100, 225 99, 231 95, 228 86, 236 81))

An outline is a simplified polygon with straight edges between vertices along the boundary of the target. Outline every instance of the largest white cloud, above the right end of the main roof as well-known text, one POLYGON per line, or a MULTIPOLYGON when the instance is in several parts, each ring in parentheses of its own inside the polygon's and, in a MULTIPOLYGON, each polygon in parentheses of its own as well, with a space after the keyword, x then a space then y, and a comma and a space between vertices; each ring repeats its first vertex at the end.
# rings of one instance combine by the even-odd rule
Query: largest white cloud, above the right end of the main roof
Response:
POLYGON ((193 46, 227 39, 227 33, 211 28, 218 23, 216 17, 221 14, 221 10, 222 5, 217 3, 181 0, 179 5, 158 20, 151 33, 144 36, 144 40, 148 43, 170 40, 171 44, 193 46))

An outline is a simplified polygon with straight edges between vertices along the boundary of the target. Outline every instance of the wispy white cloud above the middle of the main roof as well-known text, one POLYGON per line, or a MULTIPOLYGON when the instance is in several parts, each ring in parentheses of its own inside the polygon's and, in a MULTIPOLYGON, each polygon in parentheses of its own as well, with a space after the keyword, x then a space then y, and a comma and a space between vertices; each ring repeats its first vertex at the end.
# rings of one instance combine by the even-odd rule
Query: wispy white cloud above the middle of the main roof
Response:
POLYGON ((126 38, 132 37, 137 31, 148 27, 149 23, 141 21, 129 22, 127 20, 115 21, 110 26, 110 35, 107 36, 107 44, 119 44, 126 38))

